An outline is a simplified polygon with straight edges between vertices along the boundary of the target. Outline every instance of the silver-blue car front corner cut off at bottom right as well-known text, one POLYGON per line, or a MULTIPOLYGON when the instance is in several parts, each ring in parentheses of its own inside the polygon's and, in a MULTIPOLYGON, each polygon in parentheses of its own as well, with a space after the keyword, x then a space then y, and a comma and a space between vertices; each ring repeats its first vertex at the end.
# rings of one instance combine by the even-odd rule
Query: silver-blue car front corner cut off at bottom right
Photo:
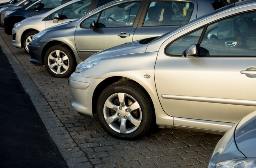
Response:
POLYGON ((208 168, 256 167, 256 111, 248 114, 217 143, 208 168))

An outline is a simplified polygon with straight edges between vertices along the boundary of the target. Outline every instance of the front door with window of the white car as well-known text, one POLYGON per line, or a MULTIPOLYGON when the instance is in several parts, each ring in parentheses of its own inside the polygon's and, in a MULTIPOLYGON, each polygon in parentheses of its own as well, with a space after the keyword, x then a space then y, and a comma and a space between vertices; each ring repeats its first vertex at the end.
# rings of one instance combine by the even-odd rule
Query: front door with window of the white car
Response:
POLYGON ((85 15, 88 12, 89 7, 91 6, 93 0, 81 0, 70 5, 66 5, 57 11, 52 12, 45 19, 45 28, 55 26, 57 24, 73 21, 76 18, 79 18, 85 15), (53 18, 56 13, 59 13, 59 20, 53 22, 53 18))

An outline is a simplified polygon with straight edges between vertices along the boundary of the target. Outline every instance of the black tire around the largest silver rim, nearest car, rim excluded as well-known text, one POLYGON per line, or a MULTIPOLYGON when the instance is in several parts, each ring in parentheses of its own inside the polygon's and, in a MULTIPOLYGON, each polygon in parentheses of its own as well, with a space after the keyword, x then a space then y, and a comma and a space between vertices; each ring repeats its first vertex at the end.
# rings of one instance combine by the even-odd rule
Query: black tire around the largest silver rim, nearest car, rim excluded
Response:
POLYGON ((139 137, 143 135, 145 130, 147 130, 147 128, 150 126, 150 123, 149 123, 150 109, 147 107, 146 104, 147 103, 145 102, 144 98, 132 88, 127 86, 110 86, 109 88, 105 89, 99 96, 99 100, 97 103, 97 114, 98 114, 99 122, 107 133, 111 134, 116 138, 133 139, 135 137, 139 137), (126 93, 132 96, 140 105, 141 112, 142 112, 142 120, 139 127, 131 133, 122 134, 122 133, 116 132, 112 130, 111 127, 105 121, 104 114, 103 114, 104 104, 105 104, 105 101, 114 93, 126 93))

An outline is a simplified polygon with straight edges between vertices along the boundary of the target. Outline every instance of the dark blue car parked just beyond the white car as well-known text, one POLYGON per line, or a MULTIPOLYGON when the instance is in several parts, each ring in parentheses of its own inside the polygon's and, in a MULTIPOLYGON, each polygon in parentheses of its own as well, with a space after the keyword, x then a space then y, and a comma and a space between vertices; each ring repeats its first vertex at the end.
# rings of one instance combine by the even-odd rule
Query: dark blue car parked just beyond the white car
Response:
POLYGON ((54 9, 55 7, 63 5, 69 1, 71 0, 36 0, 29 5, 25 5, 15 10, 11 10, 5 14, 5 33, 11 35, 12 28, 15 23, 20 22, 27 17, 40 15, 45 12, 48 12, 54 9))

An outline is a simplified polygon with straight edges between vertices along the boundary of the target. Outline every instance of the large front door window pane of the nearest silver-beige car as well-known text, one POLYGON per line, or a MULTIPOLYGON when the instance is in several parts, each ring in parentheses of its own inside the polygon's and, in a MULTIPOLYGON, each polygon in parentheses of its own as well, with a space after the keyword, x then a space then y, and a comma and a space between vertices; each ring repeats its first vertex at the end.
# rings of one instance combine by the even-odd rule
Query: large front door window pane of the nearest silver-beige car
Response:
POLYGON ((209 56, 255 56, 255 27, 255 11, 225 18, 207 27, 200 47, 209 56))

